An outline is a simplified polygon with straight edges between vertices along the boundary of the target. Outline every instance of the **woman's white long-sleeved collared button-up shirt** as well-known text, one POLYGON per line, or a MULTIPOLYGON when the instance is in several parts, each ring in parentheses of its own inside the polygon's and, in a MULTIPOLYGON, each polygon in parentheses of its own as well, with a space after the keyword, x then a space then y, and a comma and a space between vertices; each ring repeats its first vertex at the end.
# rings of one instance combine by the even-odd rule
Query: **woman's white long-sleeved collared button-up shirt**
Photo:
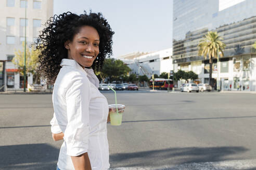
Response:
POLYGON ((98 90, 92 69, 62 59, 53 91, 53 133, 64 133, 58 167, 74 169, 70 156, 88 152, 92 169, 109 168, 108 102, 98 90))

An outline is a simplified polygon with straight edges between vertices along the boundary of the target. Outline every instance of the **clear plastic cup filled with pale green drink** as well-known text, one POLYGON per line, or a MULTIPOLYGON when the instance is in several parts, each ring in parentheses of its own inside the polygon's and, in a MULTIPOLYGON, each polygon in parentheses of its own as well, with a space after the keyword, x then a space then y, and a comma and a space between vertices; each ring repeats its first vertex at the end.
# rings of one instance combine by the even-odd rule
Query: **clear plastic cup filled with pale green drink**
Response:
POLYGON ((108 105, 111 108, 110 114, 110 124, 114 126, 118 126, 122 124, 122 117, 125 105, 120 104, 112 104, 108 105))

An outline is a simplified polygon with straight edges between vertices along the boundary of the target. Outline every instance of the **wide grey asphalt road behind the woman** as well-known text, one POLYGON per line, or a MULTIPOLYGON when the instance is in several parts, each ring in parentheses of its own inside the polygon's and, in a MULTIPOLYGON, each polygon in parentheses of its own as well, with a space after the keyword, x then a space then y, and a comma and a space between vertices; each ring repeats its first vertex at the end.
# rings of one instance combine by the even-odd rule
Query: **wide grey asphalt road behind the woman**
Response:
MULTIPOLYGON (((256 169, 255 94, 117 96, 126 108, 121 126, 108 124, 111 168, 256 169)), ((0 169, 56 168, 62 142, 51 138, 52 116, 50 94, 0 95, 0 169)))

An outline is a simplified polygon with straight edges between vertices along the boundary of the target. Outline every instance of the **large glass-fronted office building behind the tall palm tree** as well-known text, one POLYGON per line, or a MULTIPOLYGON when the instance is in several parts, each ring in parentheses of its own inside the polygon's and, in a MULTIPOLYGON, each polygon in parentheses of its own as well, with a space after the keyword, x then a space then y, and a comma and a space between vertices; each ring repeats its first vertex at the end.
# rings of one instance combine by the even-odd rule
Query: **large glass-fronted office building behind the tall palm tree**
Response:
POLYGON ((198 56, 198 44, 208 31, 216 31, 226 44, 220 70, 213 61, 212 77, 219 72, 222 90, 256 90, 256 1, 174 0, 173 58, 177 69, 193 70, 209 82, 209 60, 198 56))

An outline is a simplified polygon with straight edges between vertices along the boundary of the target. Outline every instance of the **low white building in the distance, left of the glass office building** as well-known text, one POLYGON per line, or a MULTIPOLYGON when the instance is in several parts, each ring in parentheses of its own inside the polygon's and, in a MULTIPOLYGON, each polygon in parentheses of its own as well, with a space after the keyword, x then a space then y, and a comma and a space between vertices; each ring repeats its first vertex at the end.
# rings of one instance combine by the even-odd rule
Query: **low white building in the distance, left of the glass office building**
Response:
POLYGON ((132 69, 131 73, 151 77, 152 74, 160 75, 163 72, 170 73, 173 70, 171 56, 172 48, 169 48, 140 55, 132 60, 119 59, 132 69))

